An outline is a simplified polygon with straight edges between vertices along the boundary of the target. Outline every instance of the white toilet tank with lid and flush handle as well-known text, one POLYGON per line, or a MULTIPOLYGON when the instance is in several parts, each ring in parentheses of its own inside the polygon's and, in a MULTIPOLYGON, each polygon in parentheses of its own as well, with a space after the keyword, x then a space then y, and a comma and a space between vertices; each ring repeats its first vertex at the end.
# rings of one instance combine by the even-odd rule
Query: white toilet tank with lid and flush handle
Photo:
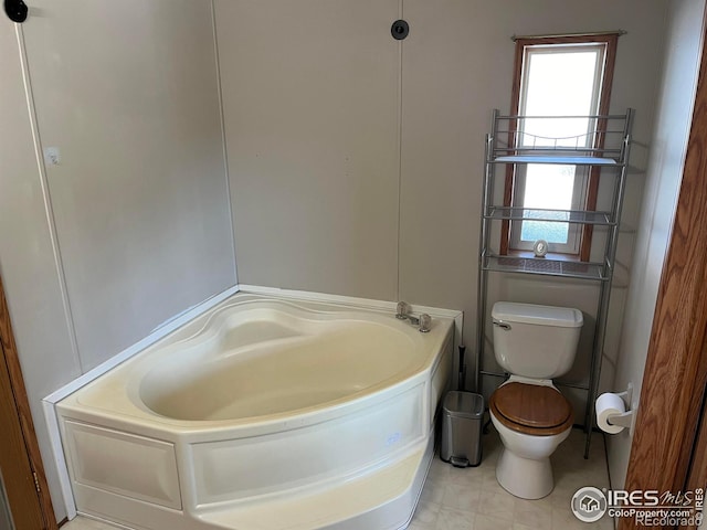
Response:
POLYGON ((583 324, 579 309, 497 301, 490 316, 496 361, 508 373, 552 379, 572 368, 583 324))

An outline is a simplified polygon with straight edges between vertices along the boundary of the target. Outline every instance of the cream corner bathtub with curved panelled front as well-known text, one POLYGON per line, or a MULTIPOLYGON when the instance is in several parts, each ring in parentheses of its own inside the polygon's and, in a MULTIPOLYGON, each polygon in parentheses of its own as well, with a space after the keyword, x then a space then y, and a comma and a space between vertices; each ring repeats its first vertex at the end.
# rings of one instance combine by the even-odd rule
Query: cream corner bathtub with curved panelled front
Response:
POLYGON ((236 295, 57 404, 76 508, 151 530, 405 528, 453 327, 236 295))

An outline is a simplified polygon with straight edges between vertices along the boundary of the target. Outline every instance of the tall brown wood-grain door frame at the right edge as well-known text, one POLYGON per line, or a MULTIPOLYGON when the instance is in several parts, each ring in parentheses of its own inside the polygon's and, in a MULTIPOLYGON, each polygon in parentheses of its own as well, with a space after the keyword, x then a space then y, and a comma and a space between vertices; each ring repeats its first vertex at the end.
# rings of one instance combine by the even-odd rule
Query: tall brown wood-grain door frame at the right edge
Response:
MULTIPOLYGON (((703 23, 703 39, 705 23, 703 23)), ((686 491, 707 480, 707 46, 658 288, 625 489, 686 491)), ((632 528, 630 519, 620 529, 632 528)))

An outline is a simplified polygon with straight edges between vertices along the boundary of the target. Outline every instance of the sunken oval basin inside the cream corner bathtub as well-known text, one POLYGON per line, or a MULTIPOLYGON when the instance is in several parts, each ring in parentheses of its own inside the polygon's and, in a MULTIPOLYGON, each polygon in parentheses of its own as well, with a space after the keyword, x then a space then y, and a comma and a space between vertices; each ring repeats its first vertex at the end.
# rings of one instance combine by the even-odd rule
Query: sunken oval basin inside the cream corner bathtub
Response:
POLYGON ((424 361, 409 335, 388 326, 288 316, 251 309, 239 315, 247 322, 217 319, 217 331, 181 342, 145 374, 140 400, 176 420, 294 414, 380 389, 424 361))

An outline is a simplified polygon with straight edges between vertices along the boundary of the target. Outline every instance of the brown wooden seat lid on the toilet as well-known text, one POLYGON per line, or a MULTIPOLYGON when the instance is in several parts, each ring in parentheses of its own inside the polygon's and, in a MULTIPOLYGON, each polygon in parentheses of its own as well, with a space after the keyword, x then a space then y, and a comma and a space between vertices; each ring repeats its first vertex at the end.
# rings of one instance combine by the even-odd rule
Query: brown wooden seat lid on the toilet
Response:
POLYGON ((492 394, 488 405, 497 420, 521 433, 549 436, 572 425, 572 405, 551 386, 504 384, 492 394))

